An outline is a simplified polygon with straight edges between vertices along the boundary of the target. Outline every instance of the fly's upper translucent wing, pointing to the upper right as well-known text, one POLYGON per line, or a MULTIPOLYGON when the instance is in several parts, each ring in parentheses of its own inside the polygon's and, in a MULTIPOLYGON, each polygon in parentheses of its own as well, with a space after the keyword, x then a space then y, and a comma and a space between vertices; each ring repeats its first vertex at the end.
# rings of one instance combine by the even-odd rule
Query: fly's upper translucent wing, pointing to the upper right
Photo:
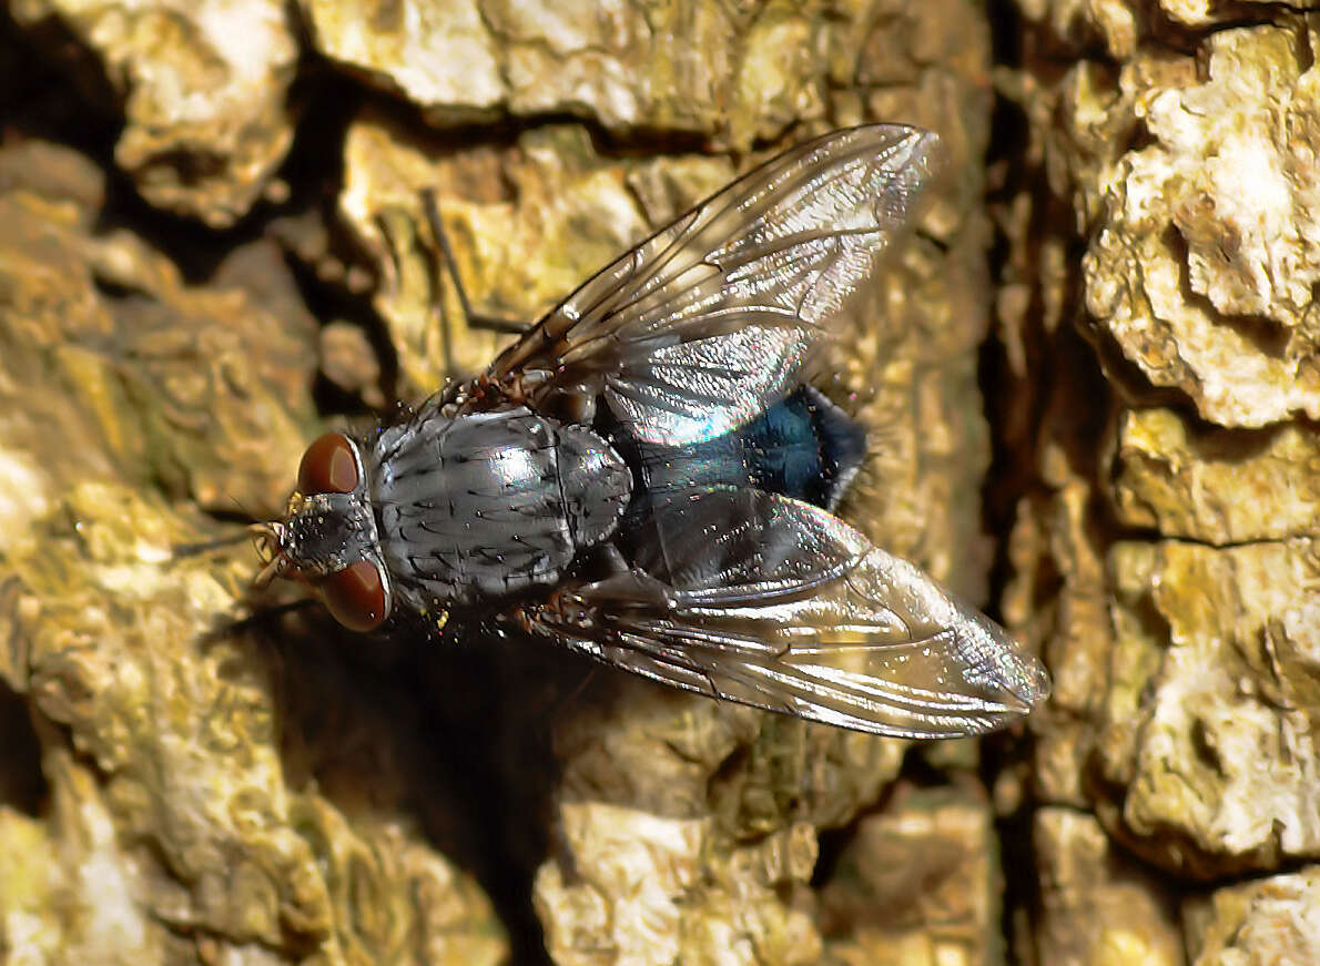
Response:
POLYGON ((645 442, 700 442, 783 396, 929 181, 936 137, 834 132, 733 182, 569 296, 488 379, 603 395, 645 442))

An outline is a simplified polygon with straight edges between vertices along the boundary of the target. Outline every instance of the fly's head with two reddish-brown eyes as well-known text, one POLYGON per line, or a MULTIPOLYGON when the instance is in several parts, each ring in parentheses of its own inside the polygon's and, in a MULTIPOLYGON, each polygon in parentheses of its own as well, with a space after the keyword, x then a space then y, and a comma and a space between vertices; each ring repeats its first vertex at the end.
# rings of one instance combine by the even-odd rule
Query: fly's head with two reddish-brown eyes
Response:
POLYGON ((366 480, 358 443, 326 433, 302 454, 284 520, 257 534, 267 562, 257 585, 276 577, 306 583, 350 631, 375 629, 393 603, 366 480))

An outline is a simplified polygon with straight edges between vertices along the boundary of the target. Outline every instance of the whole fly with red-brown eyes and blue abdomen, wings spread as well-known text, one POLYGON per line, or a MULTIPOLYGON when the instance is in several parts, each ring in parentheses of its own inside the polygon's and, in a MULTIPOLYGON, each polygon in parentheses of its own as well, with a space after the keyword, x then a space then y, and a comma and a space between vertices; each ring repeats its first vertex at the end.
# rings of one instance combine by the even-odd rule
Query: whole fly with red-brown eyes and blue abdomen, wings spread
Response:
POLYGON ((480 620, 713 698, 982 734, 1043 665, 836 517, 862 429, 803 384, 913 218, 936 137, 838 131, 733 182, 397 425, 308 449, 260 579, 372 631, 480 620))

